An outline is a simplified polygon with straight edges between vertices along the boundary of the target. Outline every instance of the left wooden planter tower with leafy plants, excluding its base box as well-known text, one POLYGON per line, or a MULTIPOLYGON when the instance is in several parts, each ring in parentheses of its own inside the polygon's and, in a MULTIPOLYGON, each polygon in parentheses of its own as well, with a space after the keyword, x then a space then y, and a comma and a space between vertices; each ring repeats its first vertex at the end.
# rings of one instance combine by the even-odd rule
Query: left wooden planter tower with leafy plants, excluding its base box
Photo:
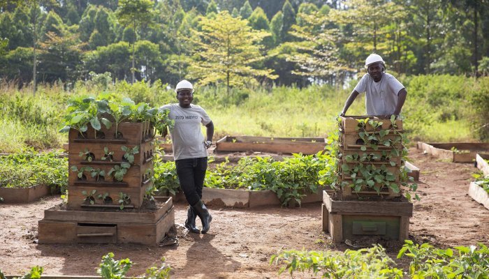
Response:
POLYGON ((106 97, 68 101, 68 209, 137 208, 155 190, 153 139, 172 125, 168 111, 106 97))

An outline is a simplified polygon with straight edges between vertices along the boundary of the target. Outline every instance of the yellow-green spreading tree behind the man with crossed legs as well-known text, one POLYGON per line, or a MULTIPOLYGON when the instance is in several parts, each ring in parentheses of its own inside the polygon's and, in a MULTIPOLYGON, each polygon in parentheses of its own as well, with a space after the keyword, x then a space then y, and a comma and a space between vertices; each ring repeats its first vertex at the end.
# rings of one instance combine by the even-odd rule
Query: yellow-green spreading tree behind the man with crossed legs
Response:
POLYGON ((189 75, 198 84, 224 82, 229 92, 231 86, 256 84, 257 77, 276 78, 270 69, 252 67, 264 59, 258 43, 267 33, 252 30, 247 20, 231 17, 226 10, 214 20, 200 17, 200 28, 194 30, 196 59, 189 67, 189 75))

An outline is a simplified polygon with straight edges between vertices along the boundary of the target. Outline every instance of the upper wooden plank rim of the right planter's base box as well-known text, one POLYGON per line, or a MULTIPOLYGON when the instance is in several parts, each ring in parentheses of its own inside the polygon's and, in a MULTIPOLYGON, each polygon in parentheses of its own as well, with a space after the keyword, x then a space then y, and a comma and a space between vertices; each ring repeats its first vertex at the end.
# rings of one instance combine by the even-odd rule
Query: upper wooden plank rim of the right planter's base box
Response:
POLYGON ((397 216, 413 215, 411 202, 366 202, 366 201, 335 201, 323 191, 323 204, 329 212, 340 213, 395 213, 397 216))

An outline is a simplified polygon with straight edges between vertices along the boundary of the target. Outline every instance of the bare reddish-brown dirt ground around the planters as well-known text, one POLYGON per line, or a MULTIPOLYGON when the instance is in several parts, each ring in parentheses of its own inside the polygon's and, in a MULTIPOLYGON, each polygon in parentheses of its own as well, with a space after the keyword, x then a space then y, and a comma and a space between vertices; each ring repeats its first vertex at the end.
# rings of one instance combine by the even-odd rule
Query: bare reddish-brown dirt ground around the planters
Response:
MULTIPOLYGON (((472 164, 448 163, 410 150, 410 160, 421 169, 410 238, 440 248, 489 244, 489 211, 467 195, 472 164)), ((43 210, 60 202, 48 197, 31 204, 0 204, 0 269, 22 274, 31 266, 44 267, 45 275, 96 276, 101 257, 114 252, 115 258, 129 257, 134 263, 130 276, 138 276, 161 257, 173 268, 172 278, 289 278, 277 275, 270 256, 279 249, 345 250, 332 245, 321 232, 321 204, 298 209, 262 207, 231 209, 211 207, 210 232, 187 234, 178 246, 136 245, 41 245, 36 243, 38 220, 43 210)), ((186 218, 184 204, 175 204, 175 223, 186 218)), ((400 244, 388 247, 395 258, 400 244)), ((407 267, 408 259, 398 261, 407 267)), ((312 278, 295 273, 295 278, 312 278)))

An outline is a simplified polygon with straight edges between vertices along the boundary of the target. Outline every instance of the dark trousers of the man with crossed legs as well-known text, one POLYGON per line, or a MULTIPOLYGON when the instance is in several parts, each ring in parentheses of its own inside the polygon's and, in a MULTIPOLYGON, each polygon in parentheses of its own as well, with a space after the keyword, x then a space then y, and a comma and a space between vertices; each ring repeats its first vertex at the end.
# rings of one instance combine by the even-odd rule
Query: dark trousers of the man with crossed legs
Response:
POLYGON ((194 206, 202 198, 207 157, 176 160, 175 166, 185 198, 191 206, 194 206))

